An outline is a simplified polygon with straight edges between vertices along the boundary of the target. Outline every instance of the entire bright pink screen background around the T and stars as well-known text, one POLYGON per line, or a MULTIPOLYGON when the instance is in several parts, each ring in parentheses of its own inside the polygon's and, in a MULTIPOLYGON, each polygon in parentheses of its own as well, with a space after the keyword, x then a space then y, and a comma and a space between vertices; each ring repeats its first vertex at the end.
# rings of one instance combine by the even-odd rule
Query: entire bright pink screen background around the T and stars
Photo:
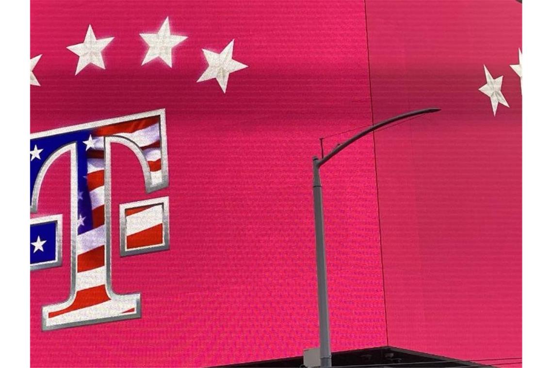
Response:
MULTIPOLYGON (((32 132, 165 108, 169 187, 145 195, 133 153, 114 146, 112 218, 119 203, 168 195, 171 243, 121 258, 112 239, 114 290, 140 292, 142 318, 42 332, 41 306, 70 285, 69 157, 56 161, 38 215, 64 215, 64 259, 31 273, 31 364, 207 366, 317 346, 319 137, 430 106, 442 111, 368 136, 322 169, 332 349, 520 356, 521 99, 509 68, 520 14, 514 0, 34 0, 30 56, 43 57, 32 132), (189 39, 173 68, 140 66, 139 33, 167 16, 189 39), (75 76, 66 46, 88 24, 115 39, 106 70, 75 76), (201 49, 232 39, 248 68, 226 94, 196 83, 201 49), (484 63, 504 75, 510 104, 495 117, 478 91, 484 63)), ((326 152, 351 134, 327 138, 326 152)))

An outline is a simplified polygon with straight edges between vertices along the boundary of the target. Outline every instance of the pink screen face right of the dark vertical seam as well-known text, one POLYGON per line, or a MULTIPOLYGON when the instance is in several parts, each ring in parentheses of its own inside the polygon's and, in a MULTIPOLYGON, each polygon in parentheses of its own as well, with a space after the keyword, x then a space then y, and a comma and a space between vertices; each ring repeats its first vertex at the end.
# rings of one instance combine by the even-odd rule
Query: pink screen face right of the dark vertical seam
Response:
POLYGON ((367 20, 374 120, 442 109, 375 134, 389 344, 520 357, 521 5, 369 1, 367 20))

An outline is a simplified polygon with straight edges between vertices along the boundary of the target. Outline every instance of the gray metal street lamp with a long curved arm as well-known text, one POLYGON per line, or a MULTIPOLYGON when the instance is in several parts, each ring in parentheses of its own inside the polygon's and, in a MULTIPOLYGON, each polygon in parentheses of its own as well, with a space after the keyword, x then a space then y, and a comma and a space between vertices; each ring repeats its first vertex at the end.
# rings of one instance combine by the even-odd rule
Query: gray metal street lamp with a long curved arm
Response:
POLYGON ((342 151, 351 143, 357 141, 383 126, 392 124, 393 122, 411 118, 412 116, 435 113, 440 109, 424 109, 410 111, 409 113, 394 116, 388 120, 379 122, 378 124, 371 125, 366 130, 363 130, 357 135, 349 138, 346 142, 338 145, 332 152, 328 153, 321 159, 313 157, 313 199, 315 206, 315 240, 316 240, 316 253, 317 253, 317 292, 319 295, 319 344, 321 354, 321 367, 331 367, 332 358, 330 353, 330 326, 328 322, 328 287, 326 284, 326 255, 325 255, 325 232, 324 221, 322 218, 322 186, 321 177, 319 175, 319 169, 321 166, 330 160, 336 154, 342 151))

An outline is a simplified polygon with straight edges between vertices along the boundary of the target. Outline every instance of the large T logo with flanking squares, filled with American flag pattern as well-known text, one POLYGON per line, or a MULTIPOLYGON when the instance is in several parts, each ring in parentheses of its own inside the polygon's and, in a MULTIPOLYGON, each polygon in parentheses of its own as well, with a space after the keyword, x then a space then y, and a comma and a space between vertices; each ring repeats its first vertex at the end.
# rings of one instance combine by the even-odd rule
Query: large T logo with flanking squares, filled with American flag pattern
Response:
MULTIPOLYGON (((43 307, 43 330, 139 318, 140 294, 119 295, 111 287, 111 144, 134 152, 147 193, 165 188, 165 110, 40 132, 30 143, 31 213, 38 211, 50 165, 66 152, 71 155, 71 290, 65 302, 43 307)), ((168 198, 122 205, 122 211, 122 255, 168 249, 168 198)), ((48 242, 61 249, 60 222, 61 215, 32 219, 32 269, 61 264, 59 250, 46 252, 48 242)))

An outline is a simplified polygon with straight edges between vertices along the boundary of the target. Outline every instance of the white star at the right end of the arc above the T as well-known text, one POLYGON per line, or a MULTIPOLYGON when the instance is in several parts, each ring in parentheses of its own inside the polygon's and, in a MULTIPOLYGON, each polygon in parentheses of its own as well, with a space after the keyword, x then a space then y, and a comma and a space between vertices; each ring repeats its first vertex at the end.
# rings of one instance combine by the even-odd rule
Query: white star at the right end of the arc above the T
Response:
POLYGON ((221 54, 216 52, 202 49, 204 56, 206 57, 209 66, 200 79, 196 82, 207 81, 208 79, 216 78, 219 82, 219 86, 223 90, 223 93, 227 91, 228 74, 236 72, 243 68, 247 68, 247 65, 242 64, 236 60, 232 60, 232 49, 234 47, 234 40, 232 40, 221 54))

